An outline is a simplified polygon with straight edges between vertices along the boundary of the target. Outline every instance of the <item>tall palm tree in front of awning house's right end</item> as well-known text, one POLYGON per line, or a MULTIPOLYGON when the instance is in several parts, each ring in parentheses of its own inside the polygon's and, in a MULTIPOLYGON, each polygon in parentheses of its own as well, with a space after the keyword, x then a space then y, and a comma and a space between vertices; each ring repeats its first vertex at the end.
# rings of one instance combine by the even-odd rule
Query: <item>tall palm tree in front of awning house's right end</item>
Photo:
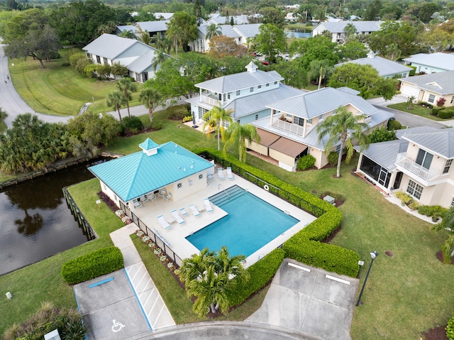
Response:
POLYGON ((319 142, 323 141, 325 136, 328 136, 328 141, 325 143, 325 150, 331 149, 339 141, 341 141, 341 149, 339 150, 337 177, 341 177, 341 160, 343 149, 347 149, 346 161, 349 162, 353 156, 352 139, 358 141, 361 148, 367 147, 367 136, 362 131, 368 128, 368 125, 363 121, 366 118, 365 114, 353 116, 345 106, 339 106, 336 109, 336 114, 329 116, 319 126, 319 142))

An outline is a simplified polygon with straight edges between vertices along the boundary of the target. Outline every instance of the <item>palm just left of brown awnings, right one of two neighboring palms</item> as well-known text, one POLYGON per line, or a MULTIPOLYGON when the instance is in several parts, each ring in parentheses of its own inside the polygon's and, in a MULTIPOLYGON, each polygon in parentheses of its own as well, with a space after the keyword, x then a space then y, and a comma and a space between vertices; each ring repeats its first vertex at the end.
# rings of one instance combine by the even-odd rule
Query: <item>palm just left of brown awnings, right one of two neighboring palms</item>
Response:
POLYGON ((251 124, 240 125, 235 122, 230 124, 223 135, 223 139, 226 141, 224 144, 224 154, 227 154, 228 148, 233 144, 238 143, 238 155, 240 162, 246 161, 246 140, 252 143, 253 140, 260 142, 260 136, 255 130, 255 126, 251 124))

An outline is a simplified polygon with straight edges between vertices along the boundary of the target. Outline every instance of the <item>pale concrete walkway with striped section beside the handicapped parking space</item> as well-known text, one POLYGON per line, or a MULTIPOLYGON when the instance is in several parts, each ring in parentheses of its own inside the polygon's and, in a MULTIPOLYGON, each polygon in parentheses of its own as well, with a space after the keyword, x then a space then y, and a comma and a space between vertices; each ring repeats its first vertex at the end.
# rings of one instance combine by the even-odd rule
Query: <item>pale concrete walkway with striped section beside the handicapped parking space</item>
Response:
MULTIPOLYGON (((175 321, 170 315, 160 293, 157 291, 153 280, 143 265, 138 251, 135 249, 130 235, 138 229, 135 224, 128 224, 112 232, 111 238, 114 245, 123 253, 124 266, 133 290, 138 297, 140 307, 148 319, 152 329, 174 326, 175 321)), ((153 254, 150 252, 150 256, 153 254)))

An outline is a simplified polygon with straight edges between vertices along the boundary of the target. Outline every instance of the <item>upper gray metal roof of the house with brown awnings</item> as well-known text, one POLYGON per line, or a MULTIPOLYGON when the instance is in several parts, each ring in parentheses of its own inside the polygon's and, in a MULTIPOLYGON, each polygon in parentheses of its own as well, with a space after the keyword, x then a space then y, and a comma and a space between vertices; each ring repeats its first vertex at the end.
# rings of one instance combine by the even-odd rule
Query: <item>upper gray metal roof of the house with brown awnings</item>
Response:
POLYGON ((292 114, 293 116, 311 119, 347 104, 352 104, 367 116, 377 111, 375 106, 369 104, 361 97, 333 89, 332 87, 306 92, 294 98, 272 103, 267 105, 267 107, 292 114))

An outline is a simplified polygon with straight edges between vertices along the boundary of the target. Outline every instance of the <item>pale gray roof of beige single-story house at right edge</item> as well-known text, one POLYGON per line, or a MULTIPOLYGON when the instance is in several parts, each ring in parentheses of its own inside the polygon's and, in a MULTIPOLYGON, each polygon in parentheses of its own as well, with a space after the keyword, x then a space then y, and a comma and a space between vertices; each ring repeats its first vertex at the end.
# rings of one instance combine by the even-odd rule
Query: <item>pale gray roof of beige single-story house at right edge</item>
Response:
POLYGON ((416 75, 409 78, 400 78, 399 80, 438 94, 454 94, 454 71, 416 75))

